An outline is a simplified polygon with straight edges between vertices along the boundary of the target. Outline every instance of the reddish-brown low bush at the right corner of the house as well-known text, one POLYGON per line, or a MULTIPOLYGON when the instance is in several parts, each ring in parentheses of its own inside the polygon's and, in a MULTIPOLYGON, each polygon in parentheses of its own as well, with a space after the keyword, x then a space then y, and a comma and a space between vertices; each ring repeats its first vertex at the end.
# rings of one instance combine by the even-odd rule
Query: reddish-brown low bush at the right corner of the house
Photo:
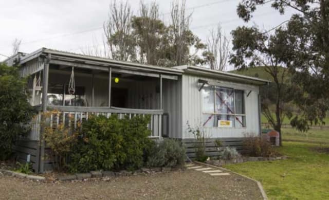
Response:
POLYGON ((242 146, 243 154, 249 156, 271 157, 278 154, 278 152, 271 146, 266 138, 254 137, 251 134, 246 135, 242 146))

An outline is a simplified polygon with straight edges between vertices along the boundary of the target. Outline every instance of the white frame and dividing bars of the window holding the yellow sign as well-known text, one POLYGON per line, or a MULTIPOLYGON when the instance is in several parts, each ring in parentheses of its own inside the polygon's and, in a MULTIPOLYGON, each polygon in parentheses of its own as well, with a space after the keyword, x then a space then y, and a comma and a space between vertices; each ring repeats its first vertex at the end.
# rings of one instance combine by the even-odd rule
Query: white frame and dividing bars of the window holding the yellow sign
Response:
MULTIPOLYGON (((245 126, 242 126, 242 127, 239 127, 237 129, 246 129, 247 128, 247 117, 246 117, 246 101, 245 101, 245 90, 242 90, 242 89, 234 89, 233 87, 225 87, 225 86, 216 86, 216 85, 207 85, 207 87, 211 87, 211 89, 213 90, 213 111, 214 112, 204 112, 204 96, 203 94, 204 93, 201 93, 201 96, 202 96, 202 115, 212 115, 212 116, 217 116, 217 115, 229 115, 229 116, 233 116, 234 117, 234 126, 232 127, 229 127, 229 129, 235 129, 237 128, 236 127, 236 116, 242 116, 242 120, 243 118, 245 118, 245 126), (216 113, 216 89, 221 89, 221 88, 224 88, 224 89, 231 89, 233 90, 233 105, 234 105, 234 113, 216 113), (244 114, 236 114, 236 102, 235 102, 235 90, 241 90, 243 92, 243 113, 244 114)), ((204 88, 202 88, 202 90, 204 90, 204 88)), ((209 90, 209 89, 208 89, 209 90)), ((204 122, 203 122, 204 123, 204 122)), ((215 123, 218 123, 218 120, 215 122, 215 123)), ((240 122, 241 123, 241 122, 240 122)), ((204 126, 204 124, 203 124, 204 126)), ((223 129, 224 127, 218 127, 218 124, 217 126, 211 126, 212 128, 221 128, 223 129)), ((209 127, 208 127, 209 128, 209 127)), ((228 127, 227 127, 228 128, 228 127)), ((226 129, 227 129, 226 128, 226 129)))

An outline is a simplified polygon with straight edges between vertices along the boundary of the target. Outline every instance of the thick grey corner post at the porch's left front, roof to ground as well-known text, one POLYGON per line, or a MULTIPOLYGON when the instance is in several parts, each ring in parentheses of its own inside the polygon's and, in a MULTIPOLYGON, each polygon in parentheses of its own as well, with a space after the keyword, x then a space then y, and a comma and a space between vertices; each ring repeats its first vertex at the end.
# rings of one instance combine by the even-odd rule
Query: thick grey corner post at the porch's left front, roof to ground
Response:
MULTIPOLYGON (((48 78, 49 78, 49 61, 51 59, 51 54, 48 54, 48 58, 46 58, 46 61, 44 63, 44 68, 43 68, 43 83, 42 83, 42 112, 46 113, 47 112, 47 94, 48 94, 48 78)), ((43 122, 44 116, 42 117, 43 122)), ((43 138, 44 134, 44 127, 41 126, 41 131, 40 131, 40 158, 39 158, 39 171, 41 173, 44 172, 44 157, 45 157, 45 140, 43 138)))

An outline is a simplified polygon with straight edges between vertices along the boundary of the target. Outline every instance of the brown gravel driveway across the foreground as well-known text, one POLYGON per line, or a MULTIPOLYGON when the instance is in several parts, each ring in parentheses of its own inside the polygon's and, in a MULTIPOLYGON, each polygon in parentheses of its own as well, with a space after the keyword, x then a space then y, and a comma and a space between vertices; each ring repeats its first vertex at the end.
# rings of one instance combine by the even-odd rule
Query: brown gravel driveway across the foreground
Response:
POLYGON ((194 170, 38 183, 0 175, 0 199, 262 199, 253 181, 194 170))

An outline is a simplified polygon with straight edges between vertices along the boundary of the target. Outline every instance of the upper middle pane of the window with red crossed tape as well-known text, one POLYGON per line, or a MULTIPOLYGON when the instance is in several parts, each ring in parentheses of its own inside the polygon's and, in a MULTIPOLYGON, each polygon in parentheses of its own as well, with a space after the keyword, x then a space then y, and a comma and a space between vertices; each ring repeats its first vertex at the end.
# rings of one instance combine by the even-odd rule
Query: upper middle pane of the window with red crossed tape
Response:
POLYGON ((234 114, 234 90, 216 88, 215 92, 216 113, 234 114))

